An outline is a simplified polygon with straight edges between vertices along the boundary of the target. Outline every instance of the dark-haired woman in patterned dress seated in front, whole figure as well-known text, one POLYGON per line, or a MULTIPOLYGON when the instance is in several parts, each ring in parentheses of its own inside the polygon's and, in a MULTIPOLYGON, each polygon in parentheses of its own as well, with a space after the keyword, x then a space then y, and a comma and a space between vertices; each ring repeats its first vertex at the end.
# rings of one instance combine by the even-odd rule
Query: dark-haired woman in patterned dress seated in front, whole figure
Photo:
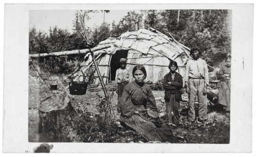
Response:
POLYGON ((175 143, 176 139, 171 128, 158 117, 155 97, 151 89, 144 83, 145 67, 135 66, 132 74, 135 81, 125 86, 120 99, 120 121, 147 141, 175 143))

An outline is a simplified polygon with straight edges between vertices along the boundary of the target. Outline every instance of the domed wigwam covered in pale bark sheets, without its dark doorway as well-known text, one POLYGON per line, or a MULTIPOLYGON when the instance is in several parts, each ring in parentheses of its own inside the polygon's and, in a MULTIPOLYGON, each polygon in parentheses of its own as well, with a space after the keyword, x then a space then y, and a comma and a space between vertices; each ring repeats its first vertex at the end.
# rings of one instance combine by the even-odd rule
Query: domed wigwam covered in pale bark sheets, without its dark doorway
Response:
MULTIPOLYGON (((148 72, 146 82, 156 83, 163 80, 163 74, 169 72, 170 60, 177 62, 181 75, 185 74, 185 63, 189 58, 190 49, 176 41, 171 34, 171 37, 168 37, 154 28, 150 29, 129 31, 117 38, 110 37, 93 48, 96 50, 94 55, 104 83, 109 84, 115 79, 120 58, 127 59, 128 70, 131 70, 137 64, 145 66, 148 72)), ((94 66, 92 63, 91 54, 87 53, 84 62, 81 64, 82 71, 86 72, 90 66, 94 66)), ((129 78, 132 81, 131 74, 129 78)), ((82 80, 82 73, 79 71, 74 74, 74 79, 82 80)), ((92 80, 91 84, 100 83, 96 71, 92 75, 92 80)))

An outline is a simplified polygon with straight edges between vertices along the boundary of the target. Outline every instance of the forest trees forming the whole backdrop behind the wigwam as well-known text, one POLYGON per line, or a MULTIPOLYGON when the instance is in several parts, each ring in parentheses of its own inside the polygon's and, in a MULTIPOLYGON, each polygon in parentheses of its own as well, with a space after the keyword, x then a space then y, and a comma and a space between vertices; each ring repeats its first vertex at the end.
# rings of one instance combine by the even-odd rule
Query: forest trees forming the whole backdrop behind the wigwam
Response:
MULTIPOLYGON (((109 12, 109 10, 102 10, 109 12)), ((79 10, 73 20, 73 33, 55 26, 49 33, 37 32, 35 28, 29 30, 29 54, 57 52, 64 50, 86 49, 82 38, 82 26, 79 16, 83 20, 90 20, 91 13, 97 10, 79 10)), ((111 12, 111 11, 110 11, 111 12)), ((201 57, 209 65, 216 65, 225 54, 231 53, 231 10, 140 10, 129 11, 119 22, 112 22, 111 29, 108 23, 94 28, 87 27, 89 40, 96 46, 109 37, 119 37, 122 33, 139 28, 156 30, 174 38, 185 46, 200 47, 201 57), (224 54, 224 55, 223 55, 224 54)))

